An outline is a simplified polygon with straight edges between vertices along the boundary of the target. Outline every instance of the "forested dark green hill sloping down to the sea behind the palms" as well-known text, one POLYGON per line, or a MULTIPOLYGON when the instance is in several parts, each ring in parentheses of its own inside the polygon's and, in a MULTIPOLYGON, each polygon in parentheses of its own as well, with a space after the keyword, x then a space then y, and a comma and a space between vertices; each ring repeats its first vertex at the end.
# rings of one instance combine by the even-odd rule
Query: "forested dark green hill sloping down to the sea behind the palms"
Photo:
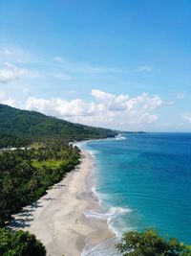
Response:
POLYGON ((39 140, 62 137, 69 140, 113 137, 116 132, 73 124, 44 114, 0 105, 0 134, 39 140))

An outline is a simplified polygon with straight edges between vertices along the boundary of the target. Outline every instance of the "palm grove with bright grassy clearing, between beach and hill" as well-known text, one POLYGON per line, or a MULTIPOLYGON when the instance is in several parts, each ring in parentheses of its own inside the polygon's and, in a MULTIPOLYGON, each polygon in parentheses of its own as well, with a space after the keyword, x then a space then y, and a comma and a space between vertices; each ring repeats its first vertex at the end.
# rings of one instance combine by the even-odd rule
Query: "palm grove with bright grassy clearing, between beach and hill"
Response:
POLYGON ((79 163, 79 150, 63 140, 37 148, 0 152, 0 226, 11 214, 42 197, 79 163))

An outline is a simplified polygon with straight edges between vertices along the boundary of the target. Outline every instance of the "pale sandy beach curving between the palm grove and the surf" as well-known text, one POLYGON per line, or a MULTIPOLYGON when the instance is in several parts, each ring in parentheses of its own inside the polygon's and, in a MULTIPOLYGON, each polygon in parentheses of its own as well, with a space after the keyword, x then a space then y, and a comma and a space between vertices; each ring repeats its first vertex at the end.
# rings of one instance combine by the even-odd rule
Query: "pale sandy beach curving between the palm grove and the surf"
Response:
POLYGON ((92 193, 94 160, 82 151, 81 163, 47 195, 13 217, 12 229, 29 230, 45 244, 47 255, 79 256, 85 244, 96 245, 114 234, 106 221, 86 218, 84 211, 99 210, 92 193))

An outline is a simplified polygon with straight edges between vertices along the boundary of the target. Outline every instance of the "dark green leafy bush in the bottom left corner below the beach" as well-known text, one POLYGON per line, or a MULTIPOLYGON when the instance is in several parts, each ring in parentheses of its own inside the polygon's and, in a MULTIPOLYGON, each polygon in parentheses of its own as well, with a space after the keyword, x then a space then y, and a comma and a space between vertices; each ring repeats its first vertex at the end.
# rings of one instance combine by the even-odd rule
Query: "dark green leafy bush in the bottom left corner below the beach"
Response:
POLYGON ((11 232, 0 228, 0 255, 2 256, 45 256, 46 249, 35 236, 22 230, 11 232))

